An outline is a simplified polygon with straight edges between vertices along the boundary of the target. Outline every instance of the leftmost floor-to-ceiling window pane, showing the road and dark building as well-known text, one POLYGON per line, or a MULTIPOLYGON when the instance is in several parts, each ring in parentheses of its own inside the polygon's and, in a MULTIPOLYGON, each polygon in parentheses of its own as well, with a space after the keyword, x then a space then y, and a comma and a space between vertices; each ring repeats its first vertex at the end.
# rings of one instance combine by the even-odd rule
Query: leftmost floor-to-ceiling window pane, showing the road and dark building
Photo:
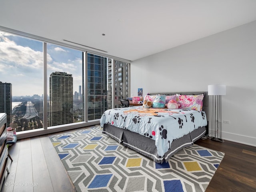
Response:
POLYGON ((40 41, 0 32, 0 81, 11 86, 11 94, 0 96, 6 97, 0 105, 11 110, 1 112, 10 116, 7 124, 17 132, 43 128, 42 47, 40 41))

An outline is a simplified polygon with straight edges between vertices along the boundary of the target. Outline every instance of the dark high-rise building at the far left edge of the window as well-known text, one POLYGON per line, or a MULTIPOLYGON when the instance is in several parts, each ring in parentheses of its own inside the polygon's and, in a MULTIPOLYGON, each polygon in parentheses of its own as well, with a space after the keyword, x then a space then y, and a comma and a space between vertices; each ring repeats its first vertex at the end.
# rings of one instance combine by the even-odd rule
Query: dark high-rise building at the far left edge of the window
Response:
POLYGON ((12 123, 12 84, 0 82, 0 113, 6 113, 7 126, 12 123))

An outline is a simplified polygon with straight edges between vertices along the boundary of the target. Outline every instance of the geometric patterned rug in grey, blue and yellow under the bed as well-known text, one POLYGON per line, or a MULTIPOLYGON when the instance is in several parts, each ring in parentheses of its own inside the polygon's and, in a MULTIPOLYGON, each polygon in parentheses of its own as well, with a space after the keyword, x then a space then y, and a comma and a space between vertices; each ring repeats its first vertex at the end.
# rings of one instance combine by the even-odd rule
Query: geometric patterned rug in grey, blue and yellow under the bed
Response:
POLYGON ((102 134, 99 125, 50 140, 77 192, 204 192, 224 157, 193 145, 158 164, 102 134))

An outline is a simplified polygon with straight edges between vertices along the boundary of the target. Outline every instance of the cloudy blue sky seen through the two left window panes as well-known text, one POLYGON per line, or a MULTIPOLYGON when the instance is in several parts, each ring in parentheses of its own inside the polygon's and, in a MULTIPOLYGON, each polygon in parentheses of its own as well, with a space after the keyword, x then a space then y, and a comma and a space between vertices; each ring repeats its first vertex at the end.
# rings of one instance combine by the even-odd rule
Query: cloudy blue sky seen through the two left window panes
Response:
MULTIPOLYGON (((47 91, 52 72, 73 77, 73 93, 82 85, 82 51, 47 44, 47 91)), ((0 81, 12 84, 12 96, 43 94, 43 42, 0 32, 0 81)))

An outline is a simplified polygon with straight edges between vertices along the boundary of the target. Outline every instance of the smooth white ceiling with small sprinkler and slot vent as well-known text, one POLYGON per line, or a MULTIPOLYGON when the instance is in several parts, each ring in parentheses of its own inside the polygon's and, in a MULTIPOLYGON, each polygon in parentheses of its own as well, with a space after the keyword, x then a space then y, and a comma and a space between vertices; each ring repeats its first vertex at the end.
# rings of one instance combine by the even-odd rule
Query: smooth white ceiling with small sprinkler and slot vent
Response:
POLYGON ((254 20, 255 0, 0 2, 0 26, 4 28, 131 61, 254 20))

